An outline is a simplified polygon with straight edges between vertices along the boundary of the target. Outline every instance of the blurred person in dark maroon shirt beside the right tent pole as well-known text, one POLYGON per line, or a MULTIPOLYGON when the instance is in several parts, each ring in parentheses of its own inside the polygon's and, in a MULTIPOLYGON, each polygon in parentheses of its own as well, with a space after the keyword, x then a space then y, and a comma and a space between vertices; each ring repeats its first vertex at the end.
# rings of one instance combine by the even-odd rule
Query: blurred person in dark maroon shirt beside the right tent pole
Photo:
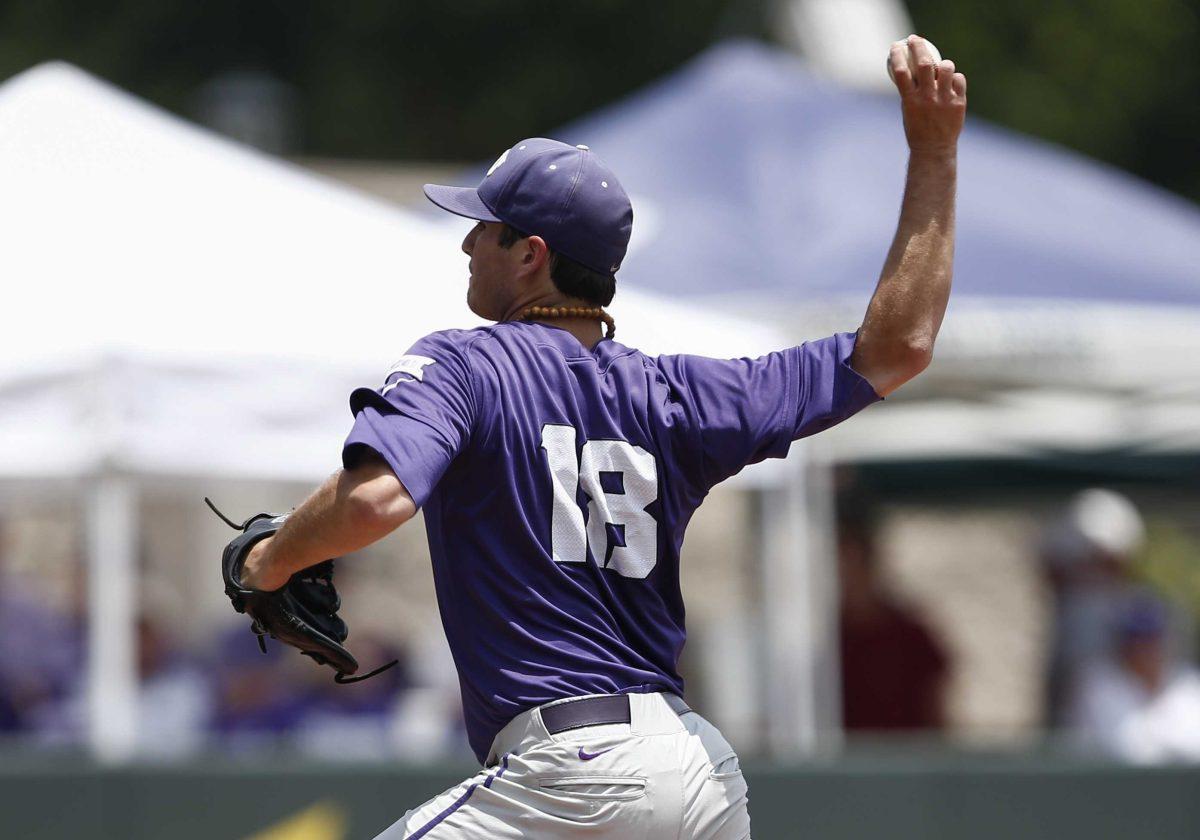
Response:
POLYGON ((869 505, 838 506, 841 582, 841 697, 847 731, 941 728, 948 658, 912 610, 878 577, 869 505))

